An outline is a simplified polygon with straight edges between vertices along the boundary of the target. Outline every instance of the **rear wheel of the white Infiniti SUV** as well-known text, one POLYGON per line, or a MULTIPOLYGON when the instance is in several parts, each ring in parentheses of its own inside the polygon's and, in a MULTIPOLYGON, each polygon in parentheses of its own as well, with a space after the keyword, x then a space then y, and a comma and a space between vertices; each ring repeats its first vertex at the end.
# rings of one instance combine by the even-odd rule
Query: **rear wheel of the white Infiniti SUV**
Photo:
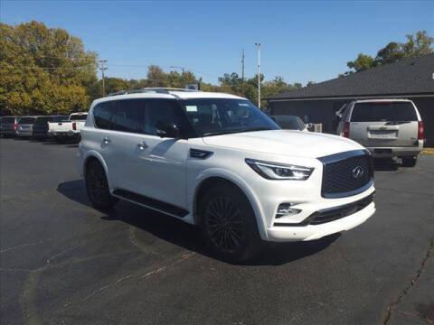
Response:
POLYGON ((118 203, 118 198, 110 194, 106 172, 98 161, 88 163, 85 181, 89 199, 95 208, 112 209, 118 203))

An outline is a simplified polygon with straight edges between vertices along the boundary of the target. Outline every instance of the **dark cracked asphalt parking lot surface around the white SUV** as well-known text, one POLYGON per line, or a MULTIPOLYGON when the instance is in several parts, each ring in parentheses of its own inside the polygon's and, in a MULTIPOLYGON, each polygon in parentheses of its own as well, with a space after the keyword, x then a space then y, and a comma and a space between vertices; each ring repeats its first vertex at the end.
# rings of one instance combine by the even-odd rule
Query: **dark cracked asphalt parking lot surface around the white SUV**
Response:
POLYGON ((92 209, 76 151, 0 139, 2 325, 434 321, 434 156, 378 165, 359 228, 230 265, 173 218, 92 209))

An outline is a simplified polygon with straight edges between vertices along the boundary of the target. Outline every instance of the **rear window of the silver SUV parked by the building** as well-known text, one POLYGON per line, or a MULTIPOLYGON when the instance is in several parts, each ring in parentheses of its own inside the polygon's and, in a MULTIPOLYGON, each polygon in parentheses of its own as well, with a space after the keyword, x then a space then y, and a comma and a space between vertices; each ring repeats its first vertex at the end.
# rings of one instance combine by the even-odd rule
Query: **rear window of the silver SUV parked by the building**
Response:
POLYGON ((356 103, 351 122, 417 121, 416 110, 410 102, 356 103))

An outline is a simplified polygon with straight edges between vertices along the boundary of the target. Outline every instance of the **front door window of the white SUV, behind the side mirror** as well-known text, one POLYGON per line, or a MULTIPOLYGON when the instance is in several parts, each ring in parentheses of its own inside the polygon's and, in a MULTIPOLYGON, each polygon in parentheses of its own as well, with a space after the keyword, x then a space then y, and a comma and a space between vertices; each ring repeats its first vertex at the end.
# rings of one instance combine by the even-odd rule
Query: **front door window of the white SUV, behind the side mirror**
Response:
POLYGON ((149 100, 146 107, 144 133, 146 135, 156 135, 156 125, 160 121, 175 123, 182 129, 183 125, 181 125, 180 113, 178 107, 175 106, 172 100, 149 100))

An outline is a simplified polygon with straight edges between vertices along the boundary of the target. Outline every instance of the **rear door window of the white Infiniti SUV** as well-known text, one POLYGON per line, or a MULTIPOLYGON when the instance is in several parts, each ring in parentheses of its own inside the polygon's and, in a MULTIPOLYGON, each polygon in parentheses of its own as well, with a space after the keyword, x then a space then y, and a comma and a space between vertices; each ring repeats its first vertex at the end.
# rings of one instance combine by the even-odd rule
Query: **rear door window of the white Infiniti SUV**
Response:
POLYGON ((113 110, 114 129, 122 132, 142 133, 146 101, 140 99, 118 100, 113 110))

